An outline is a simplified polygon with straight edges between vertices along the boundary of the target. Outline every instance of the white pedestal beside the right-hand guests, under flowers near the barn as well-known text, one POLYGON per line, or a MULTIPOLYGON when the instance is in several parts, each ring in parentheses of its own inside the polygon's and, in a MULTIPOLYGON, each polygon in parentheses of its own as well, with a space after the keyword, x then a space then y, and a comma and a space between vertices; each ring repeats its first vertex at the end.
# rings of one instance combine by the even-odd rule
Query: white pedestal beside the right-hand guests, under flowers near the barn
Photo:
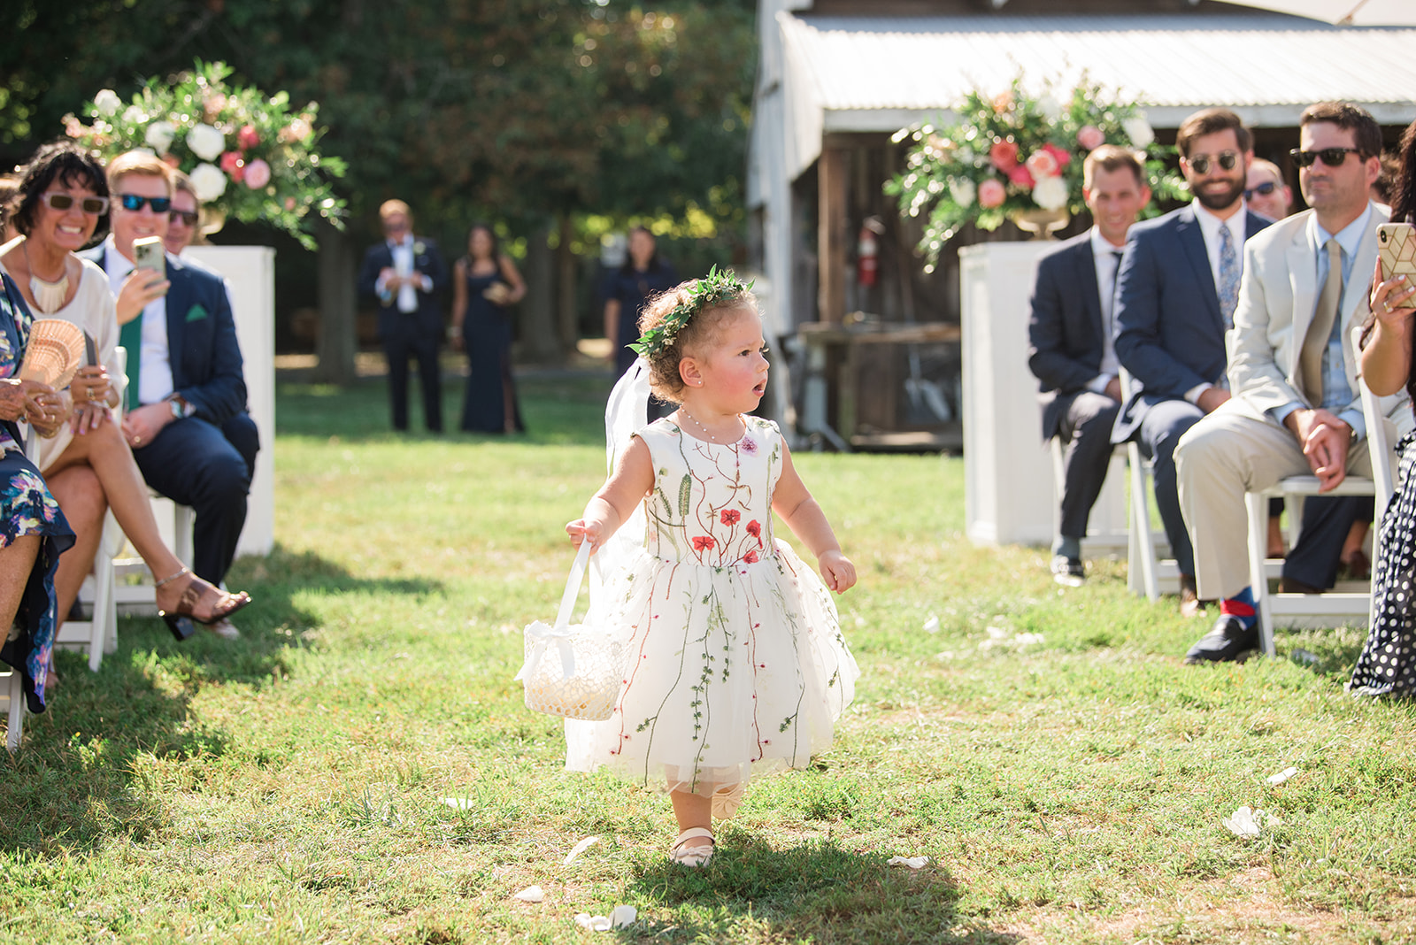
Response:
MULTIPOLYGON (((959 250, 966 523, 981 545, 1052 542, 1056 498, 1038 381, 1028 369, 1028 300, 1038 259, 1056 246, 1029 240, 959 250)), ((1120 480, 1107 477, 1089 531, 1097 538, 1119 533, 1124 546, 1120 480)))

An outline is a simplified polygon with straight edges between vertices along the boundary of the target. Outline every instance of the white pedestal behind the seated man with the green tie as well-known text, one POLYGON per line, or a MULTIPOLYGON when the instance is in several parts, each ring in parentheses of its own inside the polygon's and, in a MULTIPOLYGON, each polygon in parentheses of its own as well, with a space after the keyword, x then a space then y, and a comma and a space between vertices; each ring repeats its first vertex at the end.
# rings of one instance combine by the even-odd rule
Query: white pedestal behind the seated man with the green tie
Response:
POLYGON ((246 526, 236 555, 269 555, 275 546, 275 249, 188 246, 183 255, 225 277, 231 293, 246 400, 261 431, 246 526))

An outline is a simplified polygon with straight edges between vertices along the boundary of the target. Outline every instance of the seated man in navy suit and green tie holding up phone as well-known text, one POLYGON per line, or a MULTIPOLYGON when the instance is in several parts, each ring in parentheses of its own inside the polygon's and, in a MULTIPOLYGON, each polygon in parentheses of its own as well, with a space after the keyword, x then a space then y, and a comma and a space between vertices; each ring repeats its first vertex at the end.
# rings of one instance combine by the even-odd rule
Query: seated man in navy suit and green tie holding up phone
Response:
MULTIPOLYGON (((133 267, 133 240, 164 236, 173 194, 169 167, 142 151, 109 164, 112 235, 85 253, 118 297, 127 349, 123 437, 143 478, 195 512, 193 570, 219 584, 246 522, 259 439, 245 413, 246 382, 221 276, 166 255, 166 279, 133 267)), ((227 639, 229 621, 208 627, 227 639)))

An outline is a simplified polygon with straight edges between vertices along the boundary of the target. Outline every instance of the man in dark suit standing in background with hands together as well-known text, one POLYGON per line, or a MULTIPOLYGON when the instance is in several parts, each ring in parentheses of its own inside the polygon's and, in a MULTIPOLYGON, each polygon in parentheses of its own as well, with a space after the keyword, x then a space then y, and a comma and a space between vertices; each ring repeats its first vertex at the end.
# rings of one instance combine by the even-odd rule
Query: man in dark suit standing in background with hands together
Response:
POLYGON ((384 201, 378 219, 384 242, 364 253, 358 291, 378 303, 378 337, 388 356, 394 429, 408 429, 408 358, 413 356, 423 389, 423 420, 430 431, 442 433, 438 345, 443 335, 442 294, 447 290, 447 267, 433 240, 413 236, 408 204, 384 201))

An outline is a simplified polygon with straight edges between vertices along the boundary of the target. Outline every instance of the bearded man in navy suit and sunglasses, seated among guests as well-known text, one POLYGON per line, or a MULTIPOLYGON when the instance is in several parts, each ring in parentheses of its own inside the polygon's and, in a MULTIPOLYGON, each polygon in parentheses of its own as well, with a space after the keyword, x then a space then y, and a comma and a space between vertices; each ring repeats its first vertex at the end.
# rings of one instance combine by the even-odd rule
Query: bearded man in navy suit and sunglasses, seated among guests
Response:
POLYGON ((1116 356, 1136 383, 1112 441, 1138 440, 1153 461, 1155 505, 1180 566, 1181 613, 1195 615, 1195 559, 1180 512, 1175 443, 1229 399, 1225 331, 1239 301, 1243 243, 1272 221, 1245 207, 1253 136, 1238 115, 1191 115, 1175 149, 1195 199, 1133 226, 1116 277, 1116 356))

